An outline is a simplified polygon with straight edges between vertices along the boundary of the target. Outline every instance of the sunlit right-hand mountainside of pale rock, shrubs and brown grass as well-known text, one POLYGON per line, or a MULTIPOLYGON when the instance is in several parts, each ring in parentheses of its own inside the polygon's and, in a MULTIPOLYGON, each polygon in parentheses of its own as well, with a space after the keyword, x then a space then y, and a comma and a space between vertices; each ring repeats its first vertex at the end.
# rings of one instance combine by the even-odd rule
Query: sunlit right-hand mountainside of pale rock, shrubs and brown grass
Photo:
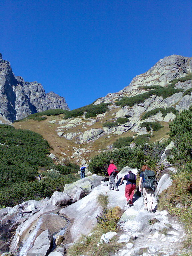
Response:
POLYGON ((120 92, 98 99, 94 104, 104 101, 108 110, 96 117, 86 118, 80 108, 72 110, 69 119, 70 112, 66 117, 48 116, 44 121, 31 119, 14 126, 39 132, 60 160, 65 156, 77 162, 110 150, 119 138, 137 136, 138 143, 138 136, 146 135, 149 142, 164 141, 169 122, 192 105, 191 60, 178 55, 165 57, 120 92))

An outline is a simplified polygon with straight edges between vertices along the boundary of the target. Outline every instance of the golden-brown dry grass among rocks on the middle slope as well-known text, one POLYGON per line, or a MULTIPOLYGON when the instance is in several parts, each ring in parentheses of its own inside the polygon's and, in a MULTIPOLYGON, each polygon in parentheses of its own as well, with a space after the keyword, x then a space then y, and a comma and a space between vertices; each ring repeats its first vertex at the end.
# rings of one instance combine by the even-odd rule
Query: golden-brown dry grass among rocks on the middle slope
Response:
MULTIPOLYGON (((102 128, 102 123, 113 118, 114 116, 112 116, 112 114, 114 112, 117 112, 119 109, 120 108, 117 108, 117 109, 107 112, 107 114, 102 118, 101 121, 96 122, 92 126, 87 126, 86 129, 82 128, 82 125, 77 125, 75 128, 70 128, 69 130, 64 131, 64 132, 66 134, 69 132, 85 132, 86 130, 89 130, 91 128, 102 128)), ((56 120, 56 122, 59 122, 60 120, 63 119, 63 114, 58 115, 58 116, 46 116, 46 117, 47 117, 47 119, 44 121, 35 121, 33 119, 29 119, 29 120, 25 120, 22 122, 13 123, 12 125, 15 128, 30 129, 32 131, 40 133, 53 147, 53 150, 51 152, 54 153, 60 160, 63 158, 63 155, 61 154, 61 152, 66 153, 67 157, 71 157, 71 155, 74 153, 74 150, 72 149, 72 147, 86 148, 88 150, 93 150, 93 152, 81 155, 82 157, 84 157, 86 159, 87 157, 91 158, 95 155, 98 155, 99 154, 98 150, 106 149, 106 147, 108 145, 113 144, 116 141, 116 139, 118 139, 118 138, 123 138, 123 137, 127 137, 127 136, 132 137, 132 136, 136 135, 136 133, 128 131, 121 135, 110 135, 110 138, 106 138, 107 135, 102 136, 99 139, 97 139, 96 141, 80 145, 80 144, 75 143, 75 139, 67 140, 65 138, 60 138, 57 135, 57 132, 55 130, 59 126, 64 126, 65 124, 58 125, 55 123, 53 124, 53 123, 48 122, 50 120, 56 120)), ((87 120, 87 122, 88 121, 89 120, 87 120)), ((166 133, 169 131, 168 123, 166 123, 166 122, 160 122, 160 123, 164 126, 164 128, 153 133, 153 137, 150 139, 151 142, 160 141, 163 137, 165 137, 165 138, 168 137, 168 135, 166 135, 166 133)))

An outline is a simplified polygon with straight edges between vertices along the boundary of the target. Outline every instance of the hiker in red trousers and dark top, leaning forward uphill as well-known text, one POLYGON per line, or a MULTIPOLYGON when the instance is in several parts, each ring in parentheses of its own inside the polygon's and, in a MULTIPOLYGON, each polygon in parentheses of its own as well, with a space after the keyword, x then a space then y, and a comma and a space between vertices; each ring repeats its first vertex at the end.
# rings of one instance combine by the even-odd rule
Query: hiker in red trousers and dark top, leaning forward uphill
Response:
POLYGON ((136 175, 132 173, 132 171, 129 171, 128 174, 126 174, 124 177, 122 177, 121 182, 119 185, 122 185, 123 180, 127 181, 125 186, 125 197, 127 198, 127 205, 130 206, 133 205, 133 194, 136 188, 136 175))

